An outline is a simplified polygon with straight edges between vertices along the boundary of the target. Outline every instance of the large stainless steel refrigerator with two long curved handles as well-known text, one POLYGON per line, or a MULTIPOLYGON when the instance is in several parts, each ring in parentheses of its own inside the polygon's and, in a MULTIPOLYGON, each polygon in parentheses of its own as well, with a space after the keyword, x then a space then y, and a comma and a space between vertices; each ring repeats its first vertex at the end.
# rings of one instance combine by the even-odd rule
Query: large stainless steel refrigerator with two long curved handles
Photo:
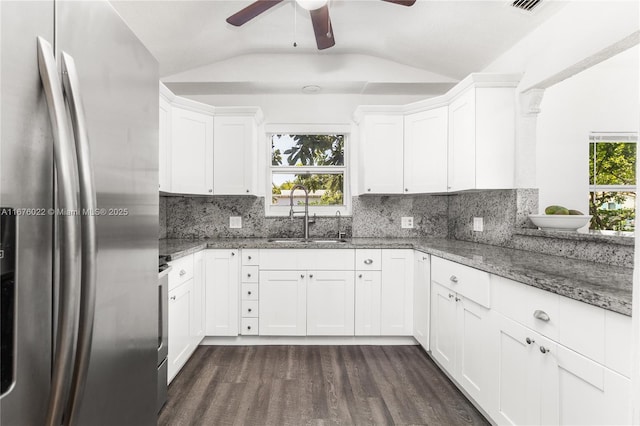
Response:
POLYGON ((155 424, 158 64, 106 1, 0 25, 0 424, 155 424))

